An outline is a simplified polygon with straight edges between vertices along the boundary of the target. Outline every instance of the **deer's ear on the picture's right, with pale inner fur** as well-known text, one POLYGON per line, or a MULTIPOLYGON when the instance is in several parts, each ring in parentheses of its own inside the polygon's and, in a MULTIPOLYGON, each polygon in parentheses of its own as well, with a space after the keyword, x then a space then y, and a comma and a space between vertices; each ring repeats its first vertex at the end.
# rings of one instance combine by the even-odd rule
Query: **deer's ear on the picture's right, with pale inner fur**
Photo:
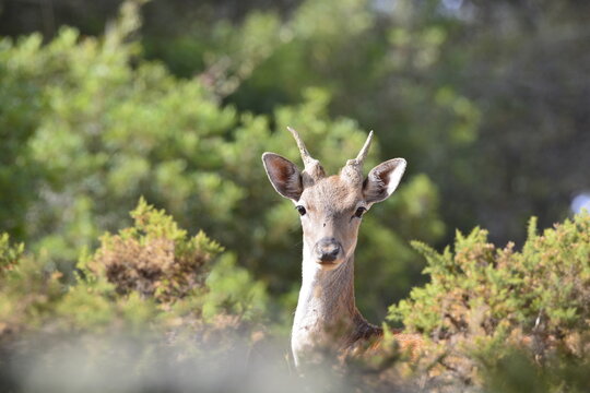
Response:
POLYGON ((393 158, 373 168, 363 182, 367 203, 385 201, 396 191, 405 170, 405 159, 393 158))

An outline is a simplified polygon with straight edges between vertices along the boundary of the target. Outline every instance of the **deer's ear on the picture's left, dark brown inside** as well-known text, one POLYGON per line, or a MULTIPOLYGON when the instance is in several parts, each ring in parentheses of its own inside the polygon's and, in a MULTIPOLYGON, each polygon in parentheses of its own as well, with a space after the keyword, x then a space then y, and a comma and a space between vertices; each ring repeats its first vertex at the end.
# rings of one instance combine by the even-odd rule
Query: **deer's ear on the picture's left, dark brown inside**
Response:
POLYGON ((299 200, 303 192, 302 172, 295 164, 274 153, 262 154, 262 163, 272 187, 281 195, 299 200))

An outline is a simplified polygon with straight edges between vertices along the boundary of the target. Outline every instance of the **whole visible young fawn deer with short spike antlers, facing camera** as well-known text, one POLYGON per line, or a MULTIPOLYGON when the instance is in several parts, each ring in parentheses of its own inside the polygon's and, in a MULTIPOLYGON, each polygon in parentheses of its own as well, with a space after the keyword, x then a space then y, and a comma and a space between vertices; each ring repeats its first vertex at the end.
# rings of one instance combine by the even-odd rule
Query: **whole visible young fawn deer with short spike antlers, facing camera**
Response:
MULTIPOLYGON (((264 153, 262 162, 269 179, 282 196, 291 199, 303 226, 303 283, 295 311, 291 347, 295 365, 320 342, 345 352, 368 340, 382 336, 382 330, 368 323, 354 300, 354 249, 363 215, 376 202, 389 198, 405 170, 405 159, 393 158, 373 168, 363 178, 363 162, 373 131, 354 159, 339 175, 326 176, 298 133, 287 128, 299 147, 305 169, 288 159, 264 153), (338 337, 334 337, 338 327, 338 337)), ((417 338, 399 336, 401 346, 417 338)))

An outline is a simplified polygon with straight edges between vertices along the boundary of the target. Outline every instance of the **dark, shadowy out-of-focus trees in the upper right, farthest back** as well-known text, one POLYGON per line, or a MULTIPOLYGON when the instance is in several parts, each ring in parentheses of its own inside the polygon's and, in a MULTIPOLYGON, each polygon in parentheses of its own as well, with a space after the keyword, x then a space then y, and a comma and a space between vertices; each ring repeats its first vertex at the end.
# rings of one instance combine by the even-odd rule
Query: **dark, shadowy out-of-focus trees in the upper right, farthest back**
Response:
POLYGON ((482 225, 494 241, 523 241, 533 214, 542 226, 563 219, 590 188, 579 170, 590 166, 589 59, 579 57, 589 49, 588 2, 290 4, 220 1, 175 29, 154 2, 145 56, 216 81, 214 91, 229 81, 225 102, 256 112, 321 87, 331 115, 378 132, 382 159, 404 156, 433 179, 447 227, 482 225))

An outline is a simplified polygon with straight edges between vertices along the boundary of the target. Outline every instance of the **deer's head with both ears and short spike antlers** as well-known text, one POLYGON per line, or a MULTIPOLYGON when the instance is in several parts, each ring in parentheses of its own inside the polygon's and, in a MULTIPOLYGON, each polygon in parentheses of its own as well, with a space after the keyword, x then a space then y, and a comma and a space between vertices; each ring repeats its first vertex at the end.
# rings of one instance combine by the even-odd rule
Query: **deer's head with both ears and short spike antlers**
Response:
POLYGON ((318 160, 311 158, 295 130, 305 169, 288 159, 264 153, 262 162, 279 194, 295 204, 302 219, 305 260, 318 269, 333 270, 346 261, 356 247, 363 214, 393 193, 405 170, 405 159, 393 158, 373 168, 363 179, 362 165, 373 134, 355 159, 339 175, 326 177, 318 160))

